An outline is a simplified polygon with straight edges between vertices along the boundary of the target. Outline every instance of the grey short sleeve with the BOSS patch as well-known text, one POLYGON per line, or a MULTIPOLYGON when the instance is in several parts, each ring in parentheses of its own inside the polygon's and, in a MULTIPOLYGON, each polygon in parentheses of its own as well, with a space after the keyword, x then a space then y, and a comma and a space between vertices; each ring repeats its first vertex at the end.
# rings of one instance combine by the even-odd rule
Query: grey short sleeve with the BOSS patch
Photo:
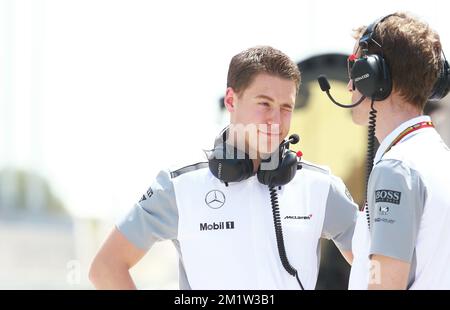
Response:
POLYGON ((427 197, 417 171, 398 160, 377 164, 369 182, 370 254, 411 263, 427 197))

